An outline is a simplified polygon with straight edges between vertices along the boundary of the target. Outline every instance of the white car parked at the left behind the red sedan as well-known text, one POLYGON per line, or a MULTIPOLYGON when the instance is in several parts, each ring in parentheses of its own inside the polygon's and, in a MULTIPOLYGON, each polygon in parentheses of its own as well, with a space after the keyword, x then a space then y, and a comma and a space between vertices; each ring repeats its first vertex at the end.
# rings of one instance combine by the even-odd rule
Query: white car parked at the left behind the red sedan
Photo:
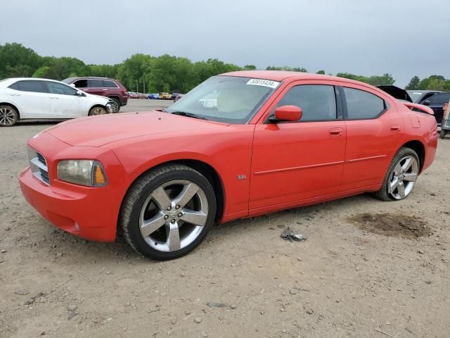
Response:
POLYGON ((36 78, 0 80, 0 126, 18 120, 79 118, 111 113, 110 99, 87 94, 63 82, 36 78))

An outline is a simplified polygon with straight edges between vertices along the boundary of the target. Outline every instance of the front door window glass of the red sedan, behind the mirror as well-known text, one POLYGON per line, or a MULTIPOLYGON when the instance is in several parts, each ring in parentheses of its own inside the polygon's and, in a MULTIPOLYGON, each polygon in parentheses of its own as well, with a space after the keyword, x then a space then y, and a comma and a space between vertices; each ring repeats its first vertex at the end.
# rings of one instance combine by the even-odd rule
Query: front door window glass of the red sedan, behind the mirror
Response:
POLYGON ((277 106, 288 105, 302 108, 300 121, 335 120, 335 87, 323 84, 302 84, 292 87, 277 106))

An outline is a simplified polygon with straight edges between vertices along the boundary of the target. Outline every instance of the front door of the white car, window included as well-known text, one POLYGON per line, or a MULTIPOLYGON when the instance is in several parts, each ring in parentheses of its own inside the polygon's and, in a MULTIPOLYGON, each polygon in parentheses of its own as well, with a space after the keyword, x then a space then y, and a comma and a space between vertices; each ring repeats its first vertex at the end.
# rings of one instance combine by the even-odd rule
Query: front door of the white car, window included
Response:
POLYGON ((50 93, 50 113, 53 118, 77 118, 87 115, 86 96, 78 90, 59 82, 46 81, 50 93))

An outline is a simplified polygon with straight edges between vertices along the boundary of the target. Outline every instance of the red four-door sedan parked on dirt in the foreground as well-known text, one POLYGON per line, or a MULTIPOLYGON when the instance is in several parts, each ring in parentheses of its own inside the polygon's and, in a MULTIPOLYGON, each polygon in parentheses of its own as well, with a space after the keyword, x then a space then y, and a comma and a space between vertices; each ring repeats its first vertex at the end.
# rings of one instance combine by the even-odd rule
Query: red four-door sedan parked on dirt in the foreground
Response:
POLYGON ((144 256, 182 256, 214 221, 372 192, 408 196, 435 158, 426 106, 307 73, 211 77, 164 111, 79 118, 28 142, 20 175, 51 223, 144 256), (408 104, 408 106, 406 106, 408 104))

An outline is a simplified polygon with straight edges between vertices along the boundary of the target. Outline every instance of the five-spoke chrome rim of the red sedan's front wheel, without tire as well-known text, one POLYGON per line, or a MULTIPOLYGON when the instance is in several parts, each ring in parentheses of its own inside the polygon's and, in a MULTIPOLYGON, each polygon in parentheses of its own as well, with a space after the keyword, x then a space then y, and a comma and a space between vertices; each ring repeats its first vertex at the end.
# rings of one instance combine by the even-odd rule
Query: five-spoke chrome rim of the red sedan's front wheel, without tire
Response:
POLYGON ((177 251, 191 244, 207 222, 205 192, 189 180, 172 180, 155 189, 144 202, 139 229, 158 251, 177 251))

